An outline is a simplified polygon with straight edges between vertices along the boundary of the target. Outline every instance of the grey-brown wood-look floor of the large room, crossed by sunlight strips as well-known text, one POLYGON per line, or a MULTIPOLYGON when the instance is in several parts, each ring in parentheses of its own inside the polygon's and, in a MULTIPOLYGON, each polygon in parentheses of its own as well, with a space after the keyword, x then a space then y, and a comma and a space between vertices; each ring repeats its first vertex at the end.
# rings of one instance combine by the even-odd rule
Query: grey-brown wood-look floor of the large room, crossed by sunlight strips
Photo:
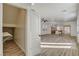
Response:
POLYGON ((73 38, 68 35, 42 35, 41 53, 39 55, 40 56, 78 56, 76 38, 73 38), (67 47, 64 48, 65 46, 67 47))

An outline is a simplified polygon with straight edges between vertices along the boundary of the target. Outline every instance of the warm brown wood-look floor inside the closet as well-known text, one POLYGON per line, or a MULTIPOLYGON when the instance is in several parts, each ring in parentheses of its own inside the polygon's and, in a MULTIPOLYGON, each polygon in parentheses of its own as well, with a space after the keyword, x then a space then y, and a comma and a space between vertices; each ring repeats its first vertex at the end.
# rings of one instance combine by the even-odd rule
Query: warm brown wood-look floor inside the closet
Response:
POLYGON ((4 56, 24 56, 24 52, 16 45, 13 40, 6 41, 3 45, 4 56))

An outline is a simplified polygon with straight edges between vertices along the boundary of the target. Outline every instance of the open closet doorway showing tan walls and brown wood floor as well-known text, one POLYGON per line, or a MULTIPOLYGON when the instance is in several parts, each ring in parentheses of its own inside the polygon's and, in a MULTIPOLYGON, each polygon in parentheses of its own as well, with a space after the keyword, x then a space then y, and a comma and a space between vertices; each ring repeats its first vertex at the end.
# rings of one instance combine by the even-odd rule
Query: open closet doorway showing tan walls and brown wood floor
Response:
POLYGON ((3 4, 3 55, 25 56, 26 9, 3 4))

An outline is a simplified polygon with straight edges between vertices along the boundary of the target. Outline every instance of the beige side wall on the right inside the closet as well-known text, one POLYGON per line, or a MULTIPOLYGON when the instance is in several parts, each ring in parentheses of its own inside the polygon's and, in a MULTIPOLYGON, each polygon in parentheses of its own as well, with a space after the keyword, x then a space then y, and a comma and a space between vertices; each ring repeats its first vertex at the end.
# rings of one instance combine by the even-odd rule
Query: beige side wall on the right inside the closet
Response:
POLYGON ((25 52, 25 20, 26 10, 19 9, 18 16, 16 19, 16 28, 14 32, 14 40, 18 46, 25 52))

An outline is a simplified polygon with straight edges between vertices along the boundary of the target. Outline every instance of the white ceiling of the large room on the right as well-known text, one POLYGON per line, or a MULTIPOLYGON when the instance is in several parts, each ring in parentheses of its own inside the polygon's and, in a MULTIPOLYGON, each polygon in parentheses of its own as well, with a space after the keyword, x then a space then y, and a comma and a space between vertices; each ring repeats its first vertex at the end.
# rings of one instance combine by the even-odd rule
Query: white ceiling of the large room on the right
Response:
POLYGON ((75 3, 34 3, 32 8, 41 18, 49 21, 76 20, 77 4, 75 3))

